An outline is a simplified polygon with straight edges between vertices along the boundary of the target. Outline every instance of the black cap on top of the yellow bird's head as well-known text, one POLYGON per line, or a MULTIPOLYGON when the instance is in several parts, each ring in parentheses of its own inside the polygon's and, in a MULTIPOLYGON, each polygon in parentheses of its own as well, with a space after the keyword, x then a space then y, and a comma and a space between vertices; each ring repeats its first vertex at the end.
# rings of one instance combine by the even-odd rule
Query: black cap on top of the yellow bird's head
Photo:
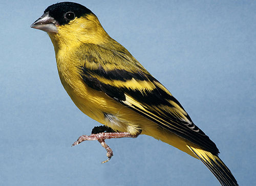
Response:
POLYGON ((62 2, 49 6, 44 13, 49 12, 49 15, 58 21, 59 25, 68 24, 72 17, 79 18, 86 14, 93 13, 88 8, 72 2, 62 2), (67 14, 68 13, 68 14, 67 14))

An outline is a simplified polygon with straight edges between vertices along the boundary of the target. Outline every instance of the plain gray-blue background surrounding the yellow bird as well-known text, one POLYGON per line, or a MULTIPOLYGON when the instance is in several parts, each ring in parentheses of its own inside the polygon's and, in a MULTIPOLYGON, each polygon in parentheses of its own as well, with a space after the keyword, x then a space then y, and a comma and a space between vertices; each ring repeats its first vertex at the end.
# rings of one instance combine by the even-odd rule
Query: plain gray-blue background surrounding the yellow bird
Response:
MULTIPOLYGON (((48 35, 57 1, 1 1, 0 185, 219 185, 197 159, 141 135, 71 144, 97 122, 63 89, 48 35)), ((240 185, 255 185, 255 1, 77 1, 180 101, 240 185)))

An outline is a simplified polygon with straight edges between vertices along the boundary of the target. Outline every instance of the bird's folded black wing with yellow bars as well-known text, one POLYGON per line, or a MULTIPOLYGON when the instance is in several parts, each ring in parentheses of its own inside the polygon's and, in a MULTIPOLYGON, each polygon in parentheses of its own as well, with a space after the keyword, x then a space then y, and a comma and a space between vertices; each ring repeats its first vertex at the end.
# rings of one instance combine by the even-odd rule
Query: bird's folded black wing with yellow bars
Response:
POLYGON ((213 154, 219 150, 170 92, 131 55, 104 51, 104 60, 87 53, 80 75, 90 87, 105 92, 159 126, 213 154))

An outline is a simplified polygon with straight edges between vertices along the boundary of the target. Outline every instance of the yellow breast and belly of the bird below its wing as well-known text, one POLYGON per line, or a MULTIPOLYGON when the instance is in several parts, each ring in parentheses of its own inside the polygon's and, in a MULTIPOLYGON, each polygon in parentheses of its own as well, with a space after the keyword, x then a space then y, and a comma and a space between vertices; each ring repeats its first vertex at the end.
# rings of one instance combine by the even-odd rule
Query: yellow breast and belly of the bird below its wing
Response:
MULTIPOLYGON (((67 60, 67 56, 64 57, 67 60)), ((74 64, 75 61, 70 60, 69 62, 65 62, 63 60, 64 58, 59 55, 56 56, 56 59, 59 77, 63 87, 75 105, 84 114, 114 130, 129 132, 132 135, 136 135, 142 130, 141 134, 160 139, 162 142, 196 157, 187 147, 187 144, 193 144, 184 138, 169 132, 132 109, 123 106, 121 103, 107 96, 104 92, 94 90, 87 86, 77 72, 76 64, 74 64), (106 117, 106 114, 111 115, 111 120, 106 117)))

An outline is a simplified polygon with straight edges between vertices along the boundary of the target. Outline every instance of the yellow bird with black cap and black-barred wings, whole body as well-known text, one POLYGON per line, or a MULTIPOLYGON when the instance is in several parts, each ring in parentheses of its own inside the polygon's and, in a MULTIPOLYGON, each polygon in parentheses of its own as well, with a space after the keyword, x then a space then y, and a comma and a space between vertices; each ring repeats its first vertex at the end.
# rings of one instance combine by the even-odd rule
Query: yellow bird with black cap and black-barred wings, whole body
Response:
POLYGON ((167 88, 106 33, 90 9, 53 4, 30 27, 48 33, 60 81, 74 104, 103 124, 73 146, 98 140, 109 160, 113 151, 105 139, 145 134, 200 159, 221 185, 238 185, 215 143, 167 88))

